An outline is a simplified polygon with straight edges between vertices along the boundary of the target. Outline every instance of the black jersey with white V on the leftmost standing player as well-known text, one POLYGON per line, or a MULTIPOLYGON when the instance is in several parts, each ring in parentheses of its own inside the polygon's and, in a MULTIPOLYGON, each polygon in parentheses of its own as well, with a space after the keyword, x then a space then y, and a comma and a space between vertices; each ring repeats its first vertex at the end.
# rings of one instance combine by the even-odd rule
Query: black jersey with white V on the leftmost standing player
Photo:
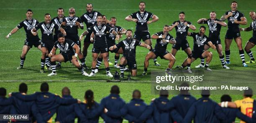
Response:
POLYGON ((39 40, 38 38, 38 35, 34 36, 32 35, 31 33, 31 30, 36 27, 36 25, 38 24, 39 22, 36 20, 36 19, 31 19, 31 20, 23 20, 20 22, 19 25, 17 25, 17 28, 20 29, 20 28, 24 28, 25 32, 26 32, 26 38, 27 40, 39 40))

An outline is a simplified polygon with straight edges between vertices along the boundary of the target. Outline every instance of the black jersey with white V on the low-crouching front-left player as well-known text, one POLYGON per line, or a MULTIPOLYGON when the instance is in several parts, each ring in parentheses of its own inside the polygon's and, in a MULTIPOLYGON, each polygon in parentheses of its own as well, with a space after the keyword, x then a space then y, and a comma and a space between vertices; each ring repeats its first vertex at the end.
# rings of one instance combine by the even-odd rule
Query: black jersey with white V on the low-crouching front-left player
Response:
POLYGON ((74 45, 75 43, 69 39, 65 39, 63 44, 59 43, 58 40, 54 43, 55 48, 59 48, 59 50, 61 50, 62 53, 68 53, 68 54, 74 52, 74 49, 73 49, 74 45))

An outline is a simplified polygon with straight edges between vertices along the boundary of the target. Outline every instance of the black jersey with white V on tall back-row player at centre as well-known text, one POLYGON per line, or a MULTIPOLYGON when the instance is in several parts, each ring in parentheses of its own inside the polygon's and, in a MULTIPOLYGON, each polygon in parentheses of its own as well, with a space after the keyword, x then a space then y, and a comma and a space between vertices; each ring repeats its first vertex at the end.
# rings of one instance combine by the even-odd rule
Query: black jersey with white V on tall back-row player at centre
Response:
POLYGON ((148 20, 149 18, 152 18, 154 14, 144 11, 144 13, 141 13, 140 11, 136 13, 132 13, 131 17, 138 19, 136 22, 136 31, 148 31, 148 20))

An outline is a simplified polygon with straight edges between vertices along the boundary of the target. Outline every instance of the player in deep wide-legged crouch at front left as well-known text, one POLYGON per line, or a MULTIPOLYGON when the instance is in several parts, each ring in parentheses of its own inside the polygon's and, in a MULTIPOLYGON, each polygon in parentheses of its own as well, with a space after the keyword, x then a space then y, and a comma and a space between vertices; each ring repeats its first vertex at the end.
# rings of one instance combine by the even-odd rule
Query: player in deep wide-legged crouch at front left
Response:
POLYGON ((65 39, 63 33, 58 34, 58 41, 54 43, 54 48, 52 48, 49 53, 49 57, 51 58, 51 68, 52 73, 48 76, 57 75, 56 73, 56 61, 58 62, 67 62, 70 61, 73 65, 75 65, 78 70, 82 72, 82 75, 88 76, 86 72, 84 72, 84 68, 77 60, 77 54, 79 53, 80 48, 77 44, 75 44, 72 40, 65 39), (61 54, 54 55, 56 53, 57 48, 61 50, 61 54), (75 53, 74 53, 75 50, 75 53))

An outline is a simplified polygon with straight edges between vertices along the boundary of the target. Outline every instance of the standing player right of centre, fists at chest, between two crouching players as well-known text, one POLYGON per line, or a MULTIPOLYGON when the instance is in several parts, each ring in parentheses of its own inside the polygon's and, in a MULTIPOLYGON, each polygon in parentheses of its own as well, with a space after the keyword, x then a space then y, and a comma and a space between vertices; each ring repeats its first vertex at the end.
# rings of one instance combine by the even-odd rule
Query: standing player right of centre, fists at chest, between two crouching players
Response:
POLYGON ((185 20, 184 12, 180 12, 179 20, 174 21, 174 23, 169 26, 169 31, 171 31, 173 28, 175 28, 176 30, 176 44, 172 46, 172 55, 175 57, 177 51, 182 48, 182 50, 187 53, 187 56, 189 56, 191 54, 191 49, 189 47, 189 43, 187 42, 187 32, 189 28, 192 30, 196 30, 195 26, 192 25, 189 21, 185 20))

